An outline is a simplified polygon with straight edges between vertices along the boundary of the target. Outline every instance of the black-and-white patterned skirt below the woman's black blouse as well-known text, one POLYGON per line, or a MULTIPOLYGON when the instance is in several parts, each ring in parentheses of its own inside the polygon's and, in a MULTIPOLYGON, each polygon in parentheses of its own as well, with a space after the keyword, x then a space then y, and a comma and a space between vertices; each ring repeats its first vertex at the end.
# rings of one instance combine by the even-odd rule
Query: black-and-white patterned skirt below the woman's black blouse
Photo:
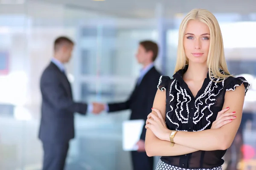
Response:
POLYGON ((159 159, 157 163, 157 169, 156 170, 222 170, 222 167, 214 167, 214 168, 207 168, 207 169, 186 169, 186 168, 181 168, 181 167, 175 167, 172 165, 169 165, 165 162, 163 162, 161 159, 159 159))

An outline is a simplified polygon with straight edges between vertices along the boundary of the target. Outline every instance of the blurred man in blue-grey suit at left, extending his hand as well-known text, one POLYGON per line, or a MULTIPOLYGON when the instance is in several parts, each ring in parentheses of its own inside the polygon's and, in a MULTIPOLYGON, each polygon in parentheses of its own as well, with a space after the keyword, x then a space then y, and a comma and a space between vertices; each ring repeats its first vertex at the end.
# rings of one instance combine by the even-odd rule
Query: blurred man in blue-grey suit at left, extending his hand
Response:
POLYGON ((72 55, 74 42, 58 37, 54 57, 45 68, 40 89, 42 95, 39 139, 44 148, 43 170, 63 170, 70 139, 74 138, 74 113, 99 113, 100 105, 74 102, 70 82, 64 68, 72 55))

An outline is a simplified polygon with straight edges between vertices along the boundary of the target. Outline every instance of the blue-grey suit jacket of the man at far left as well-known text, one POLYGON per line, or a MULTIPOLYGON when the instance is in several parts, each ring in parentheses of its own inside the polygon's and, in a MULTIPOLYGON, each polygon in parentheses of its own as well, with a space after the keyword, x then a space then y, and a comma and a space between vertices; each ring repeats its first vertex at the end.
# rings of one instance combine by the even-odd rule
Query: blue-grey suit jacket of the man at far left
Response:
POLYGON ((43 142, 68 142, 74 138, 74 113, 85 114, 87 105, 74 102, 70 82, 53 63, 44 70, 39 139, 43 142))

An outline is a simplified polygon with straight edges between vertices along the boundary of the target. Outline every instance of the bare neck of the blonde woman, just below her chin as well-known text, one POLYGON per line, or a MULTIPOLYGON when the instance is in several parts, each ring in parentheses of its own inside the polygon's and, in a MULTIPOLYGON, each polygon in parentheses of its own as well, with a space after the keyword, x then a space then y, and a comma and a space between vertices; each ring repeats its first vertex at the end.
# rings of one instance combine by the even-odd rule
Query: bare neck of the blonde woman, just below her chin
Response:
POLYGON ((189 64, 189 67, 183 75, 183 79, 201 81, 207 77, 208 67, 207 64, 189 64))

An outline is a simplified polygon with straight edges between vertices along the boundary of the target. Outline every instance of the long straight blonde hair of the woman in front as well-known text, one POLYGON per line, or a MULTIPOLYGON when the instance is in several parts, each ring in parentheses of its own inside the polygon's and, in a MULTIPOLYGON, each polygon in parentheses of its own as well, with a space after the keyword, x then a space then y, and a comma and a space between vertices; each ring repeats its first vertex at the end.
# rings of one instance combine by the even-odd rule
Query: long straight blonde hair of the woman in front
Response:
POLYGON ((230 77, 230 73, 227 69, 227 63, 224 56, 223 39, 221 35, 221 28, 218 24, 215 16, 207 11, 206 9, 193 9, 186 17, 182 20, 179 29, 179 40, 177 49, 177 61, 175 65, 175 73, 180 69, 183 69, 186 64, 189 64, 188 58, 186 57, 183 38, 187 24, 190 20, 198 20, 205 23, 209 27, 210 31, 210 46, 209 54, 207 57, 207 66, 209 68, 209 78, 212 80, 213 76, 216 79, 224 79, 230 77), (221 68, 225 74, 221 74, 219 71, 221 68), (211 74, 212 72, 212 74, 211 74))

